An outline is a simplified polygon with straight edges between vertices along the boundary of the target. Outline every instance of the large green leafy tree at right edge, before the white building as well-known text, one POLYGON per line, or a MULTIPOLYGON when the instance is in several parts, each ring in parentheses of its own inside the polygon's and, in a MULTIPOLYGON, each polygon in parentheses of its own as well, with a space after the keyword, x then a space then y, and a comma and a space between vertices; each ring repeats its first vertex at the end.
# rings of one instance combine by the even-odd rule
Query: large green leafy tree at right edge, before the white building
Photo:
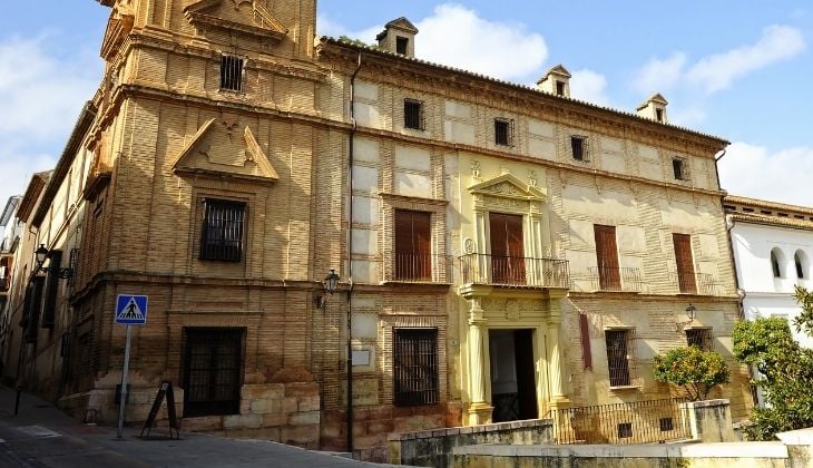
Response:
MULTIPOLYGON (((813 335, 813 293, 796 286, 802 313, 793 324, 813 335)), ((785 319, 739 322, 732 333, 734 355, 758 371, 754 383, 766 408, 754 408, 745 432, 751 440, 772 440, 776 432, 813 427, 813 350, 793 339, 785 319)))

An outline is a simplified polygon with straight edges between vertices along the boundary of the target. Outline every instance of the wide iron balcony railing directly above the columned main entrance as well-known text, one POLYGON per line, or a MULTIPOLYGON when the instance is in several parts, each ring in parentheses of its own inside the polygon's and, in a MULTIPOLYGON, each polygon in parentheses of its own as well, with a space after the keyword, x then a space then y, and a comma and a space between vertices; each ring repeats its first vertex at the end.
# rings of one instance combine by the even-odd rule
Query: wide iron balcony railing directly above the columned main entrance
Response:
POLYGON ((567 260, 472 253, 460 257, 460 275, 462 284, 570 287, 567 260))

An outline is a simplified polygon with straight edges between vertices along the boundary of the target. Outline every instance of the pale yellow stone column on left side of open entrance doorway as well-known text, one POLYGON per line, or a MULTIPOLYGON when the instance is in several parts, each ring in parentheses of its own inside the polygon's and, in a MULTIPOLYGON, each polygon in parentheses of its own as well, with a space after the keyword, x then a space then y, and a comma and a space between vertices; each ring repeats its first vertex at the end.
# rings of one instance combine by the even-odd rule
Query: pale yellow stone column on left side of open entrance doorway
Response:
POLYGON ((479 426, 491 422, 491 407, 486 401, 486 363, 483 352, 483 334, 486 320, 480 306, 480 298, 470 300, 469 312, 469 391, 471 403, 468 410, 468 425, 479 426))

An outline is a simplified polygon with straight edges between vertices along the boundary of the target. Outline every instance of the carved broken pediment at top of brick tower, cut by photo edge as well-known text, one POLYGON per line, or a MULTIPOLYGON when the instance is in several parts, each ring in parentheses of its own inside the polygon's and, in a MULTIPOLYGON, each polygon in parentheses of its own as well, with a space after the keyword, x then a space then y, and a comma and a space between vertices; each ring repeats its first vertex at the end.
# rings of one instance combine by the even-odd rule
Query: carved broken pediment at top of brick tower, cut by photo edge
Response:
POLYGON ((236 30, 274 40, 287 33, 287 28, 259 0, 199 0, 184 8, 184 16, 197 29, 236 30))

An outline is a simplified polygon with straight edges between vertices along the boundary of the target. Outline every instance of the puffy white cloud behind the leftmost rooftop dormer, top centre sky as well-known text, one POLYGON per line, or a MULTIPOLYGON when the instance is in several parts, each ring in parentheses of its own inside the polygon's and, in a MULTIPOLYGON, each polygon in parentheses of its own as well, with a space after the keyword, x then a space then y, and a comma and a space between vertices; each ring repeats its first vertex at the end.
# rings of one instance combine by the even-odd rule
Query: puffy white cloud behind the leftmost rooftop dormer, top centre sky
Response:
MULTIPOLYGON (((415 21, 415 56, 420 59, 462 68, 489 77, 532 82, 541 75, 548 58, 542 36, 527 31, 525 25, 489 21, 460 4, 443 3, 431 16, 415 21)), ((347 36, 375 43, 383 26, 350 30, 320 16, 320 35, 347 36)))

